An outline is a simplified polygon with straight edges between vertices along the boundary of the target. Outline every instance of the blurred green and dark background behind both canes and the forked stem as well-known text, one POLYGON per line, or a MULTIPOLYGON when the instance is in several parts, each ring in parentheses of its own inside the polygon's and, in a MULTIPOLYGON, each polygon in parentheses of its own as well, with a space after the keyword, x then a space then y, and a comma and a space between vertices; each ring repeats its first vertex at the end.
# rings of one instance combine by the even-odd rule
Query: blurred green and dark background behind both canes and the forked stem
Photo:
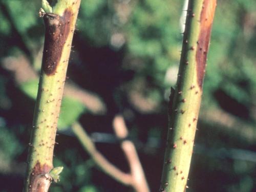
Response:
MULTIPOLYGON (((72 134, 79 120, 98 149, 129 171, 112 119, 122 113, 157 191, 170 86, 181 42, 180 0, 82 0, 50 191, 131 191, 101 173, 72 134)), ((40 1, 0 0, 0 191, 21 191, 44 42, 40 1), (14 184, 15 183, 15 184, 14 184)), ((256 191, 256 2, 219 0, 188 192, 256 191)))

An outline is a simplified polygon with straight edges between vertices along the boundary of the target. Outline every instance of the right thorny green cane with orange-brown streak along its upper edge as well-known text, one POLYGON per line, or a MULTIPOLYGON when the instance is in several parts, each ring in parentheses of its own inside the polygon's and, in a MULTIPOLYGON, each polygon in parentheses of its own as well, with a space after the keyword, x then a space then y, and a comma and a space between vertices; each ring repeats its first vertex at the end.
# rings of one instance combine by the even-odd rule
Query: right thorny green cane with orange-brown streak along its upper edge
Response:
POLYGON ((189 0, 160 191, 185 191, 200 109, 206 56, 217 0, 189 0))

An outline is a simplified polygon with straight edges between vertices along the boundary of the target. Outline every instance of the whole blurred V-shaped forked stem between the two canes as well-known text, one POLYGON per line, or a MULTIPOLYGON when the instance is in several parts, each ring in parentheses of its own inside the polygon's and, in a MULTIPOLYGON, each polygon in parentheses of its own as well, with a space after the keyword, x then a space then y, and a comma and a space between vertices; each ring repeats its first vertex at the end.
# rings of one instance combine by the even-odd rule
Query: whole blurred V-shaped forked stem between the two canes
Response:
POLYGON ((124 184, 130 185, 134 188, 136 192, 148 192, 148 188, 143 168, 141 166, 139 157, 136 152, 136 148, 133 142, 125 140, 128 136, 128 131, 125 126, 123 117, 117 115, 113 120, 113 127, 116 136, 121 140, 121 148, 124 155, 129 163, 131 173, 126 174, 118 169, 115 165, 110 163, 105 157, 97 151, 94 142, 91 140, 86 131, 82 128, 79 123, 74 123, 72 125, 72 130, 76 137, 81 142, 84 150, 91 156, 95 164, 105 173, 111 176, 116 181, 124 184))

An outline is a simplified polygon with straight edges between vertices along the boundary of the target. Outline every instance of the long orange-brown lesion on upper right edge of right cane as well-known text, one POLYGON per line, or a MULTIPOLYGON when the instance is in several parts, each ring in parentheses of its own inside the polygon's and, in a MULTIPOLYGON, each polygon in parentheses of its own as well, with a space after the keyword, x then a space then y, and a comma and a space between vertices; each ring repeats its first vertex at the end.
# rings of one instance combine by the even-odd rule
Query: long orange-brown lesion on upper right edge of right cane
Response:
POLYGON ((209 48, 209 40, 211 33, 211 26, 214 20, 214 13, 216 8, 216 0, 205 0, 202 5, 200 16, 200 34, 198 39, 196 60, 197 60, 197 82, 200 89, 202 89, 207 53, 209 48))

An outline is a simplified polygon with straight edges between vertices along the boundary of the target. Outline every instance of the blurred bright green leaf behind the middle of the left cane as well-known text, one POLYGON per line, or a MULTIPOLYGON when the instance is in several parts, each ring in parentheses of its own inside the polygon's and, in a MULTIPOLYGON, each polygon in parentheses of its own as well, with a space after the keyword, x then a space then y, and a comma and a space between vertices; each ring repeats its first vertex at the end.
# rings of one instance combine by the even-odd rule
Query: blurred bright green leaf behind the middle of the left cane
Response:
MULTIPOLYGON (((36 99, 38 80, 31 80, 20 85, 20 89, 29 97, 36 99)), ((74 123, 86 107, 76 99, 70 97, 63 97, 61 104, 61 111, 58 121, 58 131, 65 131, 74 123)))

